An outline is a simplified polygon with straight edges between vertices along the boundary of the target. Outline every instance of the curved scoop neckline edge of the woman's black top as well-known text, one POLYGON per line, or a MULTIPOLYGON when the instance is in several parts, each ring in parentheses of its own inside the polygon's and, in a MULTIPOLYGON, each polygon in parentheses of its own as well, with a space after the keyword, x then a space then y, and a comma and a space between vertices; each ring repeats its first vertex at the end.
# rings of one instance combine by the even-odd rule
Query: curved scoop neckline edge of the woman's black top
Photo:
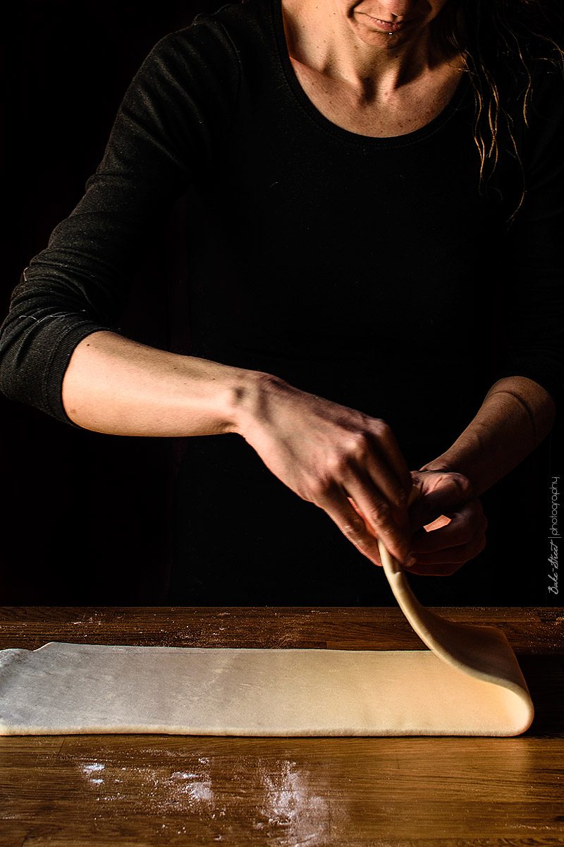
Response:
POLYGON ((298 104, 304 108, 309 117, 315 120, 315 123, 323 129, 331 132, 332 135, 339 136, 344 141, 352 141, 355 144, 370 144, 373 147, 407 147, 409 144, 414 144, 417 141, 422 141, 433 135, 437 130, 440 130, 446 122, 452 118, 456 112, 464 94, 468 88, 468 75, 463 75, 457 85, 456 91, 452 95, 445 108, 430 120, 428 124, 420 126, 419 130, 413 130, 402 136, 363 136, 351 130, 345 130, 342 126, 333 124, 331 120, 326 118, 318 108, 309 100, 302 86, 298 82, 298 77, 293 69, 290 53, 287 49, 286 33, 284 31, 284 20, 282 18, 282 0, 270 0, 272 11, 272 25, 274 29, 275 42, 277 44, 278 57, 282 64, 284 75, 286 76, 287 84, 294 97, 298 100, 298 104))

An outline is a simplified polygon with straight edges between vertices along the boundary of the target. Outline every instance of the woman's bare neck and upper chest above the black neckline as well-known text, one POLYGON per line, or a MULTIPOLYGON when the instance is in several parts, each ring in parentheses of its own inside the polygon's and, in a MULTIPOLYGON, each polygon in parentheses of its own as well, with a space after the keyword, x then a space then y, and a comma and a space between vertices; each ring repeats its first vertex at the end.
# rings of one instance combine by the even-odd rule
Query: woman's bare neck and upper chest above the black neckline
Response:
POLYGON ((406 25, 400 38, 401 27, 387 36, 353 16, 381 0, 360 0, 349 14, 343 2, 282 0, 288 53, 309 101, 361 136, 402 136, 429 124, 452 100, 462 60, 438 55, 428 25, 406 25))

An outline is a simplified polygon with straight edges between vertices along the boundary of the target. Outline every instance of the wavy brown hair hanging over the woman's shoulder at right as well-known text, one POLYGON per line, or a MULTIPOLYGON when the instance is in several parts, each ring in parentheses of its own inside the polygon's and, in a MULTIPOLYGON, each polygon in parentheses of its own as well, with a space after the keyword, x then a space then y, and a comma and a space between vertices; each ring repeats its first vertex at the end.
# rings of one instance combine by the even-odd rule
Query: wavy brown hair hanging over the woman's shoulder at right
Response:
POLYGON ((522 174, 521 152, 514 131, 516 109, 525 125, 534 76, 539 63, 549 63, 564 74, 562 34, 564 16, 559 0, 449 0, 435 20, 435 42, 441 52, 461 55, 474 88, 474 141, 479 151, 479 187, 496 170, 502 152, 514 158, 522 174), (500 75, 510 75, 512 103, 498 88, 500 75))

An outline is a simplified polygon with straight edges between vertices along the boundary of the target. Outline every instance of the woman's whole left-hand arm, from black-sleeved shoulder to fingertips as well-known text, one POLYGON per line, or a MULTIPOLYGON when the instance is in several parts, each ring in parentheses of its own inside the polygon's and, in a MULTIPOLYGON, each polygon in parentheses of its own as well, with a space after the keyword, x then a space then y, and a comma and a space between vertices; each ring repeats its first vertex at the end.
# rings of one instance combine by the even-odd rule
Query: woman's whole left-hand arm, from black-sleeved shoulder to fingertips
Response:
POLYGON ((129 88, 85 197, 30 263, 4 324, 8 396, 123 435, 237 432, 289 488, 380 562, 362 506, 408 559, 408 468, 386 424, 287 385, 134 343, 112 332, 158 222, 233 119, 240 59, 221 27, 158 45, 129 88))

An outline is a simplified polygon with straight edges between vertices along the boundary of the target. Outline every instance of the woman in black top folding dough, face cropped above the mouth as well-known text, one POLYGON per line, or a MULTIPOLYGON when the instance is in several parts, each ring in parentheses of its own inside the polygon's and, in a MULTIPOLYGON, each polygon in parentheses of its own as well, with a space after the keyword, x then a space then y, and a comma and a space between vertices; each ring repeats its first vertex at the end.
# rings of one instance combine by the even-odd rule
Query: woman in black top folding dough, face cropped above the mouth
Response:
POLYGON ((249 0, 169 36, 26 269, 8 396, 192 436, 172 599, 378 603, 376 536, 413 573, 453 573, 485 545, 479 495, 550 431, 560 54, 499 5, 249 0), (189 185, 178 356, 112 328, 189 185))

